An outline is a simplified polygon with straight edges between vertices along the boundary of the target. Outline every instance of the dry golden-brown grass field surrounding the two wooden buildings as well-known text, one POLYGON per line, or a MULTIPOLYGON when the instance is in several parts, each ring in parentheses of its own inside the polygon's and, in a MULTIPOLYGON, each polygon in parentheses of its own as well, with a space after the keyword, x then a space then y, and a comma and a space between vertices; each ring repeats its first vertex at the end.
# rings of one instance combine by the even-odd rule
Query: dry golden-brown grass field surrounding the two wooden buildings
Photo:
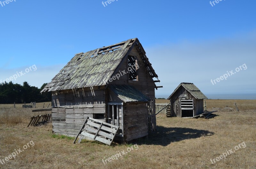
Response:
MULTIPOLYGON (((31 116, 46 112, 32 113, 21 105, 16 109, 13 105, 0 105, 0 160, 19 153, 24 145, 30 146, 4 164, 0 161, 0 168, 255 169, 256 100, 236 103, 240 112, 218 111, 212 119, 166 118, 158 114, 157 131, 148 139, 112 146, 86 140, 73 144, 74 138, 52 134, 51 124, 27 127, 31 116), (225 159, 215 159, 230 149, 233 153, 225 159), (107 164, 102 162, 122 151, 127 153, 107 164), (211 159, 216 163, 212 164, 211 159)), ((235 108, 234 100, 206 100, 206 104, 209 109, 227 105, 235 108)), ((38 108, 42 106, 37 104, 38 108)))

